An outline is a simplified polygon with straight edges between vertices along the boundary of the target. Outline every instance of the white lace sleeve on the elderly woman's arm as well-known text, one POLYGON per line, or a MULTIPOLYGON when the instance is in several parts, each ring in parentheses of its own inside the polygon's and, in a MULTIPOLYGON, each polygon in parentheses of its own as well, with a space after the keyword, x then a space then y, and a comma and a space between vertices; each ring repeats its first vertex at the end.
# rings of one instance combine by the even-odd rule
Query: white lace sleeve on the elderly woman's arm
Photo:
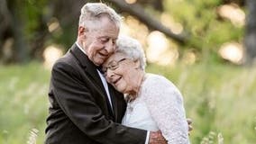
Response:
POLYGON ((163 76, 145 85, 145 102, 168 144, 188 144, 188 128, 182 95, 163 76))

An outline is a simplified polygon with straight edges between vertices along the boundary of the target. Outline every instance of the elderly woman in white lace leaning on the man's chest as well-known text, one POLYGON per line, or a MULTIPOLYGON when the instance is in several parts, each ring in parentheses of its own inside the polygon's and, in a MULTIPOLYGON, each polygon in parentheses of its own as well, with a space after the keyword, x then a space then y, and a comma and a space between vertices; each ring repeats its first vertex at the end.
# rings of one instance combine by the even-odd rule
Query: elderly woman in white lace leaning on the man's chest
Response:
POLYGON ((103 71, 108 83, 125 94, 123 125, 160 130, 169 144, 187 144, 188 127, 182 95, 164 76, 145 73, 145 55, 138 40, 120 37, 103 71))

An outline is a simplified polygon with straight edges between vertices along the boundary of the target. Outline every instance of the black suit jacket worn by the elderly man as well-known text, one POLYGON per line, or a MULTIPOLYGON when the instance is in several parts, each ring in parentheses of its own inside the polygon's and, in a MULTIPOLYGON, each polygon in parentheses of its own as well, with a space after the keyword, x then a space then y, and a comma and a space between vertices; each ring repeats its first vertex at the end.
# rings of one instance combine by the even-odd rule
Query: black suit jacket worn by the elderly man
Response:
POLYGON ((119 124, 123 94, 108 86, 112 112, 96 66, 74 44, 52 67, 47 144, 144 144, 146 131, 119 124))

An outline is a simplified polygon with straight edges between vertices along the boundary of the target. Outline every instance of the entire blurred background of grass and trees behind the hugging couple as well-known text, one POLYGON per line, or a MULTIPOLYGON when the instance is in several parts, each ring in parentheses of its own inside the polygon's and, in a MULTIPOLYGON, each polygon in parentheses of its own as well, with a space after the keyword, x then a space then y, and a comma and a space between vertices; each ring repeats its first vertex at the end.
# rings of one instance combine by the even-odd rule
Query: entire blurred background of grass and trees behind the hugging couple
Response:
POLYGON ((169 78, 193 144, 256 143, 255 0, 0 0, 0 143, 43 143, 50 68, 77 38, 80 8, 103 2, 169 78))

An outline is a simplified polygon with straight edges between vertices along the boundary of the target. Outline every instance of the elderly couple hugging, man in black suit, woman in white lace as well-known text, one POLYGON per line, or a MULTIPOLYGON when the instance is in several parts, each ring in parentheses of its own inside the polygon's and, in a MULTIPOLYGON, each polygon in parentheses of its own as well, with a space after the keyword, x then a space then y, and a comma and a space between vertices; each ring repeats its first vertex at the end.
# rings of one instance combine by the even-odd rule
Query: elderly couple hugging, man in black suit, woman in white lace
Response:
POLYGON ((189 143, 178 88, 145 73, 142 45, 118 37, 120 24, 105 4, 82 7, 78 39, 52 67, 46 144, 189 143))

